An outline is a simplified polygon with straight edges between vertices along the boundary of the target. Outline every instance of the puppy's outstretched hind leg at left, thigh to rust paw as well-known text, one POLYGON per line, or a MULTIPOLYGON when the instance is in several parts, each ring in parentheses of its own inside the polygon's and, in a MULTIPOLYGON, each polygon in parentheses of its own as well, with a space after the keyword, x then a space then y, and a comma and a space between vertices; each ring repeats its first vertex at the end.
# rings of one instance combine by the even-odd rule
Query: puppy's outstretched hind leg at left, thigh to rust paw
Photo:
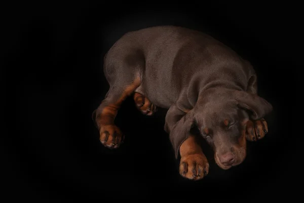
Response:
POLYGON ((143 67, 140 58, 132 64, 126 62, 126 58, 136 58, 135 54, 129 54, 123 59, 117 55, 122 54, 117 51, 112 52, 111 56, 108 54, 104 63, 104 74, 110 88, 104 100, 93 112, 100 133, 100 142, 110 149, 118 148, 123 140, 123 134, 114 124, 114 120, 123 101, 140 86, 140 72, 143 67))

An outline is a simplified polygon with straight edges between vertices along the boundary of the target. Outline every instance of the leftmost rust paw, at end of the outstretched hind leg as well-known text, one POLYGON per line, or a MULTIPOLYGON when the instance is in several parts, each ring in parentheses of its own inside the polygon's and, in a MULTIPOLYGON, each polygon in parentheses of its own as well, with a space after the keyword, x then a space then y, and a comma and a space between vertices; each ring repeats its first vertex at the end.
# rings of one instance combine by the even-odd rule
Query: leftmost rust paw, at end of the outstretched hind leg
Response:
POLYGON ((124 136, 116 125, 101 126, 100 142, 109 149, 116 149, 124 142, 124 136))

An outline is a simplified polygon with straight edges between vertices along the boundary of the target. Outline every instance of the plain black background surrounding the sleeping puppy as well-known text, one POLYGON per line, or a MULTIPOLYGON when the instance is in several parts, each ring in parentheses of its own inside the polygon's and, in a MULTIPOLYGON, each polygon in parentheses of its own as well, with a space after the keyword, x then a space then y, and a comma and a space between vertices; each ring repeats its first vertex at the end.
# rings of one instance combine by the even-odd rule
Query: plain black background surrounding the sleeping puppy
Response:
POLYGON ((264 202, 298 197, 299 7, 254 1, 2 7, 3 198, 264 202), (178 174, 163 130, 165 110, 146 117, 127 99, 116 119, 127 136, 118 150, 100 144, 91 120, 108 90, 102 72, 107 50, 127 31, 166 24, 207 32, 248 59, 258 75, 259 95, 274 107, 267 117, 270 132, 248 143, 241 165, 221 170, 205 147, 210 172, 197 182, 178 174))

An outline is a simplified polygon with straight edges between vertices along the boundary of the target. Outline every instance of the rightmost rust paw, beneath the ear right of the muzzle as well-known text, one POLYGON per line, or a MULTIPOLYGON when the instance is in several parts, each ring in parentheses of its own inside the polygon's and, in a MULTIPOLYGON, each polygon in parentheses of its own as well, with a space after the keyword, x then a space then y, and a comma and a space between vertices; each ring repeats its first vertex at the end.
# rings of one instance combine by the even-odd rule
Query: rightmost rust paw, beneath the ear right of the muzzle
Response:
POLYGON ((265 137, 268 132, 268 126, 265 119, 257 121, 249 120, 246 125, 246 140, 257 141, 265 137))

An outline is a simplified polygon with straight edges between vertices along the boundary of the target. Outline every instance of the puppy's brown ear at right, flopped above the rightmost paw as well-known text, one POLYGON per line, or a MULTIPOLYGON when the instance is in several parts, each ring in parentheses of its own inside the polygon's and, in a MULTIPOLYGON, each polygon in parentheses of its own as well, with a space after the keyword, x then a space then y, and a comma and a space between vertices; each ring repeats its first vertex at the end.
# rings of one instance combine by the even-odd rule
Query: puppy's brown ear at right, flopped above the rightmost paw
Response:
POLYGON ((273 107, 262 97, 248 92, 237 91, 235 93, 238 106, 241 109, 250 111, 250 119, 258 120, 269 114, 273 107))

